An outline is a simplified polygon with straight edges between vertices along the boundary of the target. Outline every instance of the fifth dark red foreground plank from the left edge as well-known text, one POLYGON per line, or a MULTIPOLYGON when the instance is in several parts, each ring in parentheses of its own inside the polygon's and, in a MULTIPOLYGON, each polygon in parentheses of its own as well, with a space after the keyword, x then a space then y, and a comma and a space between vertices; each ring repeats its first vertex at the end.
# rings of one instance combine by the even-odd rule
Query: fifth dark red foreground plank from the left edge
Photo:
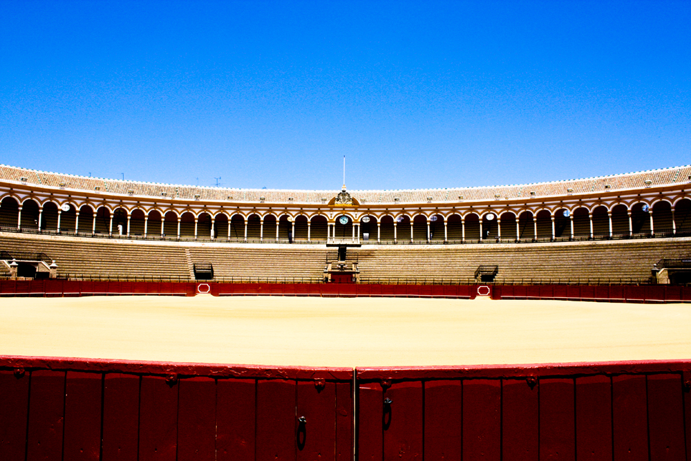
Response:
POLYGON ((144 376, 140 391, 139 461, 175 461, 178 448, 178 384, 144 376))

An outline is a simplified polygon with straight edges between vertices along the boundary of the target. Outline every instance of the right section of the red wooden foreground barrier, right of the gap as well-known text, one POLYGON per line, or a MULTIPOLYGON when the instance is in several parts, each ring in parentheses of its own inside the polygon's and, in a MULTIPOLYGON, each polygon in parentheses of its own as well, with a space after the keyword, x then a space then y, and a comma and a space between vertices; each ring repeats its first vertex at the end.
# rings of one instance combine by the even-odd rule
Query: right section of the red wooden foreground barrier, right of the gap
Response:
POLYGON ((358 368, 357 459, 687 460, 690 369, 358 368))

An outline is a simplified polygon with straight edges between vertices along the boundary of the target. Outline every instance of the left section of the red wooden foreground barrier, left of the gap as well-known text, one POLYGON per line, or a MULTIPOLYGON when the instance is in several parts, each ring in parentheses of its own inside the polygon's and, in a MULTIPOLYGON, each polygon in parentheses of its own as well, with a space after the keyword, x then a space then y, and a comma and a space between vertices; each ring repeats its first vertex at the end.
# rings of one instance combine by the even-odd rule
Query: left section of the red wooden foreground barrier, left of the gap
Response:
POLYGON ((0 460, 350 460, 352 377, 0 357, 0 460))

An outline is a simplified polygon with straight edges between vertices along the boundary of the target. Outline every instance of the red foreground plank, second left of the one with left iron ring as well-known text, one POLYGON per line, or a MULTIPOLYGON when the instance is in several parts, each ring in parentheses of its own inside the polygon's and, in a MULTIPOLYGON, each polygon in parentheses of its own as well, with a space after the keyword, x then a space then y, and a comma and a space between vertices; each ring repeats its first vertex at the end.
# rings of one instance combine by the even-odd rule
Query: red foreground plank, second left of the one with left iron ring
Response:
POLYGON ((216 382, 216 456, 218 461, 252 461, 255 449, 256 381, 216 382))

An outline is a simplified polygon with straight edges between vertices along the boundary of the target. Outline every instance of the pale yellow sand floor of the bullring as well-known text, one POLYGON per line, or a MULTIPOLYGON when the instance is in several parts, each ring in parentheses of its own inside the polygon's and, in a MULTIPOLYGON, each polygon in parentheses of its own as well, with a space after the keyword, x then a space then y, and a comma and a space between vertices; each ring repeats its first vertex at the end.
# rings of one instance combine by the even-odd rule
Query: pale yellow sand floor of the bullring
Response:
POLYGON ((0 299, 0 355, 280 366, 689 359, 691 305, 323 299, 0 299))

